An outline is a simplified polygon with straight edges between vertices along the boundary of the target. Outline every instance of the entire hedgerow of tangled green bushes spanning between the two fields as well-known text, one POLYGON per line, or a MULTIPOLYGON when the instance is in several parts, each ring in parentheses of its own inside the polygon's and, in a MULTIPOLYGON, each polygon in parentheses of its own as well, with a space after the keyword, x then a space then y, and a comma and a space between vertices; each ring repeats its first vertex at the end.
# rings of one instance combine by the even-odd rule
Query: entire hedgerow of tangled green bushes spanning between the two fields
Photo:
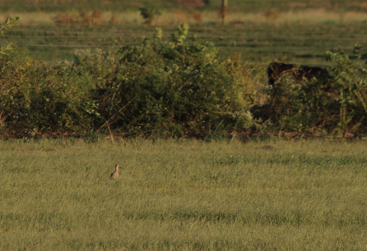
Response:
POLYGON ((261 64, 220 58, 210 42, 187 42, 187 33, 180 25, 167 42, 156 28, 150 40, 108 52, 76 50, 73 62, 57 66, 2 47, 0 133, 217 138, 366 131, 367 71, 342 51, 326 53, 334 64, 323 79, 297 83, 284 74, 267 89, 256 73, 265 73, 261 64))

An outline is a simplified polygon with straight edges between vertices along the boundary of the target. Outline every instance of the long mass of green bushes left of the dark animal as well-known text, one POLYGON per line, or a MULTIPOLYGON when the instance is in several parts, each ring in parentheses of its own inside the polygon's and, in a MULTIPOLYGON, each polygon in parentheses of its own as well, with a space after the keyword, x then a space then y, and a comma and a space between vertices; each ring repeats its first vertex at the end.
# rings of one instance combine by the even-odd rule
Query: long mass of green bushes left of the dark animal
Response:
POLYGON ((1 62, 2 131, 34 136, 84 134, 107 124, 125 135, 205 136, 255 130, 239 57, 221 60, 212 43, 184 43, 187 25, 172 42, 117 50, 77 50, 72 63, 50 67, 22 52, 1 62))

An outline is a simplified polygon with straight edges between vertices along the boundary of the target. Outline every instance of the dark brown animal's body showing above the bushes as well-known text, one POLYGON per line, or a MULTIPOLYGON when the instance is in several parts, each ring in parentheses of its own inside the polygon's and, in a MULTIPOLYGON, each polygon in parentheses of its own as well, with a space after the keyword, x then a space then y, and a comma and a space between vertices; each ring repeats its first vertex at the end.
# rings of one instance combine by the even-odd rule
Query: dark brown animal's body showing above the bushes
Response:
POLYGON ((329 76, 328 71, 320 67, 273 62, 268 67, 269 85, 274 87, 275 82, 287 73, 292 74, 296 82, 301 82, 303 78, 311 80, 313 77, 324 80, 329 76))

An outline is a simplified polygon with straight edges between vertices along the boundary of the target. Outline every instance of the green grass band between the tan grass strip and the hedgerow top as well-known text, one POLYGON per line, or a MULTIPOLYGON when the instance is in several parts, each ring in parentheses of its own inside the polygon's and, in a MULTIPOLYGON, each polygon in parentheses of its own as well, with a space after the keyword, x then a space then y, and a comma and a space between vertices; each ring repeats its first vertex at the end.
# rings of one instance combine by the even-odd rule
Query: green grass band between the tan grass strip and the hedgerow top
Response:
MULTIPOLYGON (((212 41, 219 53, 227 56, 242 53, 244 61, 256 62, 274 59, 311 65, 325 65, 324 53, 338 47, 349 54, 353 46, 362 46, 366 54, 367 23, 297 24, 273 25, 242 23, 220 25, 219 23, 191 24, 188 40, 212 41)), ((162 26, 165 40, 171 39, 176 25, 162 26)), ((152 38, 154 27, 140 24, 119 25, 20 25, 5 33, 3 41, 27 47, 30 55, 45 62, 73 59, 74 49, 102 48, 132 44, 144 37, 152 38)))

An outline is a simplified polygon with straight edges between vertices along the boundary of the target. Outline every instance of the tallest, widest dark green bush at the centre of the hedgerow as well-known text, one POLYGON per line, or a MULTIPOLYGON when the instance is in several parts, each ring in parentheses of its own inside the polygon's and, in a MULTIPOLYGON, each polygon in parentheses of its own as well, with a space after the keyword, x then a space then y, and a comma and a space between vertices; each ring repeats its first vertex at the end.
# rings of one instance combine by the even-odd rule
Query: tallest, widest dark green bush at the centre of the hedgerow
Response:
POLYGON ((78 52, 73 71, 93 83, 99 124, 109 121, 129 134, 173 136, 204 135, 219 124, 225 130, 253 124, 248 114, 238 113, 246 108, 242 69, 233 68, 231 59, 220 60, 211 43, 183 43, 187 29, 180 26, 171 43, 157 35, 104 55, 78 52))

